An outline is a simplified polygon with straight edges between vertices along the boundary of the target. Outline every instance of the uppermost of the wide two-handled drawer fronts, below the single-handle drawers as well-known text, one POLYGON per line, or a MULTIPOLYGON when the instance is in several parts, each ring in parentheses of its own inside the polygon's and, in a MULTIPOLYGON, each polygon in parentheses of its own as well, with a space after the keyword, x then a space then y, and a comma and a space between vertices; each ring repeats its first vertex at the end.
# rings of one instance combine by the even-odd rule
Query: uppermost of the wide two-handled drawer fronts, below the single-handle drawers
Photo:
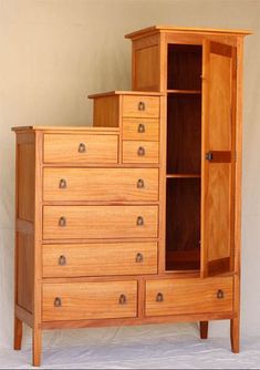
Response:
POLYGON ((44 201, 158 201, 157 168, 44 168, 44 201))

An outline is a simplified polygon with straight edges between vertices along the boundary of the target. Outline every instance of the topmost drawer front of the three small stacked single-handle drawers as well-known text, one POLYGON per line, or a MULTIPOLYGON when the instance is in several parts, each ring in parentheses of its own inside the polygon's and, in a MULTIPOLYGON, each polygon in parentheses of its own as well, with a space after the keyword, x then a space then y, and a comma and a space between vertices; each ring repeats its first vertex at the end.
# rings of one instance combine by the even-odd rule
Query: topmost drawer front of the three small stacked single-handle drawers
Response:
POLYGON ((123 116, 125 117, 158 117, 158 96, 123 96, 123 116))

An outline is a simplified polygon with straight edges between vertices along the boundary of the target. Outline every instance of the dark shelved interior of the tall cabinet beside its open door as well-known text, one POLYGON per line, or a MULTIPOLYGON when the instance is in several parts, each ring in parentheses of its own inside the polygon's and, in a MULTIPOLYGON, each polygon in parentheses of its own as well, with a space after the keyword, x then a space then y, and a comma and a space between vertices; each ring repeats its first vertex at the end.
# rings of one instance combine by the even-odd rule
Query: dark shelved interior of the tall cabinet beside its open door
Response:
POLYGON ((201 45, 168 45, 166 270, 200 268, 201 45))

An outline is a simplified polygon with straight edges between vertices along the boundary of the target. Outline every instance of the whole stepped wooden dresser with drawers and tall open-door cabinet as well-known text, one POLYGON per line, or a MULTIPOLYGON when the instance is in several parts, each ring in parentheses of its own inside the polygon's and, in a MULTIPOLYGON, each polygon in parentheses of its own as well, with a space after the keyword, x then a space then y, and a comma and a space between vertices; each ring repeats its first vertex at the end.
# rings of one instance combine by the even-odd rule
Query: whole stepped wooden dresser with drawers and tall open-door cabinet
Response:
POLYGON ((239 351, 242 39, 134 32, 93 127, 15 127, 14 349, 42 330, 231 320, 239 351))

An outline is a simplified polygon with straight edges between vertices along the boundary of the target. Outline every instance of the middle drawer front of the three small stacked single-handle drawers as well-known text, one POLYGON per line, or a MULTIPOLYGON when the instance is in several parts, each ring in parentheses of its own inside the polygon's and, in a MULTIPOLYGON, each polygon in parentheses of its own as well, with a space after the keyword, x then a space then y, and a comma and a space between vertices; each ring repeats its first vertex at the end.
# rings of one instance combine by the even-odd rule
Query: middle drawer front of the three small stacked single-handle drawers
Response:
POLYGON ((123 119, 123 138, 157 142, 159 140, 159 120, 123 119))

